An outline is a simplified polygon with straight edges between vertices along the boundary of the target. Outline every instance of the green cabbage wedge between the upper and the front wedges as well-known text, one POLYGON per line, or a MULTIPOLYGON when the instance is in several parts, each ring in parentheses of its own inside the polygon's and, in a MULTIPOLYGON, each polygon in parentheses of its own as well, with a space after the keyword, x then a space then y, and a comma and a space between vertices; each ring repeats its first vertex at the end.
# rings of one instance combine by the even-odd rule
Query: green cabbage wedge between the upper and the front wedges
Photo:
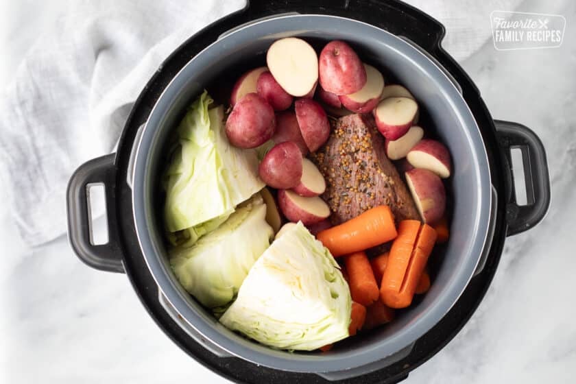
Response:
POLYGON ((274 236, 265 215, 266 205, 256 195, 191 247, 171 249, 170 264, 184 289, 209 308, 235 298, 250 267, 274 236))

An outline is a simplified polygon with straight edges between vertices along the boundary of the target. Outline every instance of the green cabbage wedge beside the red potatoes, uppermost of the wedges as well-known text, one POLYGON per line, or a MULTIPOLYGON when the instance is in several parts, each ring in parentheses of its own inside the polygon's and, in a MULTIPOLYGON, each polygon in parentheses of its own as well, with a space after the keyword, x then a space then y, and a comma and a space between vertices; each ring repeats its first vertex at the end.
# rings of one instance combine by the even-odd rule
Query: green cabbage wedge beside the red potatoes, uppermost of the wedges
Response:
POLYGON ((178 125, 178 146, 166 172, 165 223, 169 238, 191 245, 214 230, 264 187, 254 149, 232 147, 226 138, 224 108, 208 110, 204 91, 178 125), (216 219, 215 221, 211 221, 216 219))

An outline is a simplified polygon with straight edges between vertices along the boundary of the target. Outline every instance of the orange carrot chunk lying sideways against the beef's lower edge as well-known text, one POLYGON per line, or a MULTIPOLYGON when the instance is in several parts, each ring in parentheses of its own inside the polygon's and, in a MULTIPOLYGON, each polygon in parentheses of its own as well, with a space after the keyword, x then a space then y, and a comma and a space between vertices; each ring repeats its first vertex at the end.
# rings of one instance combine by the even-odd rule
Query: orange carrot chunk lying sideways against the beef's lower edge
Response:
POLYGON ((367 250, 394 239, 396 235, 392 211, 389 206, 381 205, 319 232, 316 238, 336 257, 367 250))

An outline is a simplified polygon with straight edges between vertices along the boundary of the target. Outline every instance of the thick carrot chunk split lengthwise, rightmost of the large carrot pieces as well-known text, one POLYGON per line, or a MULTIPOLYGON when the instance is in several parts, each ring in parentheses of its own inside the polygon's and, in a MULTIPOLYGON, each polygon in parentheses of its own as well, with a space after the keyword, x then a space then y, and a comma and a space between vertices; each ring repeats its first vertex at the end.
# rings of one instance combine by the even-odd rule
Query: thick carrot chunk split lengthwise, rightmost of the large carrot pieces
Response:
POLYGON ((436 241, 436 231, 420 221, 404 220, 392 243, 382 276, 380 297, 392 308, 408 307, 436 241))

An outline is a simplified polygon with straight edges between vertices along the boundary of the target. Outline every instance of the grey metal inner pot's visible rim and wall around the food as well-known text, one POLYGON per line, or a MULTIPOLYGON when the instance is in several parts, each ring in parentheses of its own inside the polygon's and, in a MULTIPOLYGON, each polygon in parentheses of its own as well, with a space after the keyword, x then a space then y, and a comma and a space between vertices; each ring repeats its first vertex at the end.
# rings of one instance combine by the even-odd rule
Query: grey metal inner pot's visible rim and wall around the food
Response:
MULTIPOLYGON (((208 91, 210 91, 208 89, 208 91)), ((426 127, 424 127, 426 128, 426 127)), ((213 352, 235 355, 278 370, 315 372, 330 379, 370 372, 403 357, 413 343, 448 312, 489 248, 491 208, 496 195, 479 128, 459 89, 425 53, 411 43, 372 25, 327 15, 286 15, 257 21, 221 36, 175 76, 158 99, 141 132, 134 159, 132 201, 141 250, 163 293, 166 307, 182 317, 182 326, 213 352), (246 60, 265 62, 272 42, 286 36, 327 42, 346 40, 362 60, 385 69, 409 88, 429 115, 453 157, 451 239, 439 272, 423 300, 391 324, 345 341, 328 353, 273 350, 228 331, 178 283, 167 262, 163 224, 158 211, 158 176, 165 167, 172 130, 194 97, 226 71, 246 60)))

